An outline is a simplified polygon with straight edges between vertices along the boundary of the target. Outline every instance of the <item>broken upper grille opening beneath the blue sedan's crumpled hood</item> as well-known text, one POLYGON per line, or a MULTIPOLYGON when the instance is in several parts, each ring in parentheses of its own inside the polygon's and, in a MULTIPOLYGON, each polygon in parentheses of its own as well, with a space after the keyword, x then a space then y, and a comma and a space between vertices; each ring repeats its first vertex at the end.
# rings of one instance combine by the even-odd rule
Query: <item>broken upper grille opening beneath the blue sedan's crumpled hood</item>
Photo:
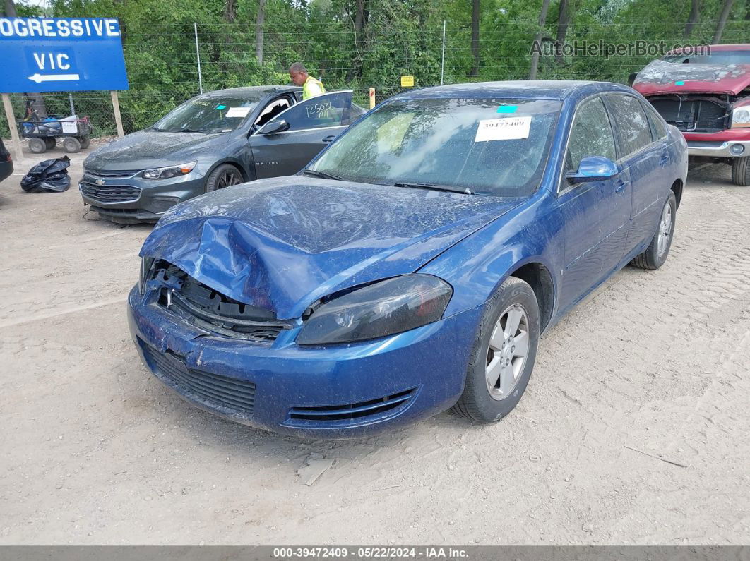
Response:
POLYGON ((272 342, 281 330, 292 327, 273 312, 233 300, 167 261, 157 261, 151 282, 157 284, 160 306, 220 335, 272 342))

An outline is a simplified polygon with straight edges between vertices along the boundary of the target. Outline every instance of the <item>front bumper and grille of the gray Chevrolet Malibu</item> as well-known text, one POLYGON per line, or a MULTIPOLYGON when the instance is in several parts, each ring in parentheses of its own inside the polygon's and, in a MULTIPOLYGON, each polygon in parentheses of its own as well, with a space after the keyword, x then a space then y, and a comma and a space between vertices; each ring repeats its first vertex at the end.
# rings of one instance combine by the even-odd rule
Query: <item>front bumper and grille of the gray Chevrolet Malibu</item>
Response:
POLYGON ((170 207, 202 194, 205 177, 193 170, 179 178, 149 180, 133 175, 84 170, 78 189, 84 204, 113 222, 156 222, 170 207), (119 175, 119 177, 118 177, 119 175))

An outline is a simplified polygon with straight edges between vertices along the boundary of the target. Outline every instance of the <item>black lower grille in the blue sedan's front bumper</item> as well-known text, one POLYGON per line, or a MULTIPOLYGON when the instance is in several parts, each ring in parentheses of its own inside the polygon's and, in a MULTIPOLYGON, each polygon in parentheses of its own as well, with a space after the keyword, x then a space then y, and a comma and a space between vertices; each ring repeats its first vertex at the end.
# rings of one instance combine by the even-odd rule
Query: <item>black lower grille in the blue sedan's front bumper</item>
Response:
POLYGON ((170 351, 160 353, 140 339, 139 342, 148 363, 182 395, 193 401, 203 402, 211 408, 224 409, 226 413, 253 412, 253 382, 187 368, 178 355, 170 351))

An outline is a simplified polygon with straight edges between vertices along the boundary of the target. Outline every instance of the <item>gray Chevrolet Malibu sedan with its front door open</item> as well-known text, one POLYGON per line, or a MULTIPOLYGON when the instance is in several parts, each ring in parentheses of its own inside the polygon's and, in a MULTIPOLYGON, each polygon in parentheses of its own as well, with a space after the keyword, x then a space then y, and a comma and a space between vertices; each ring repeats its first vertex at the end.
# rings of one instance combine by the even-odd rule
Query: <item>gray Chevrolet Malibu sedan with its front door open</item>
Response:
POLYGON ((104 219, 155 222, 178 202, 299 172, 365 112, 351 91, 301 101, 294 86, 211 91, 83 162, 84 204, 104 219))

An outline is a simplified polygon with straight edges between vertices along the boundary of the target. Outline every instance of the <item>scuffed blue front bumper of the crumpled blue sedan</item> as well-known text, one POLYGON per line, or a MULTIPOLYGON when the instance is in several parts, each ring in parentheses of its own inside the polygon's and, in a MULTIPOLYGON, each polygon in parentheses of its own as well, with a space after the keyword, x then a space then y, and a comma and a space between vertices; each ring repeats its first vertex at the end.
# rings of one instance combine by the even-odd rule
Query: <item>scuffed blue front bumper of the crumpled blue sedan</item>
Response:
POLYGON ((137 288, 127 315, 145 365, 190 403, 269 431, 347 438, 451 407, 463 391, 481 306, 407 333, 319 348, 296 345, 299 327, 272 343, 217 336, 137 288))

